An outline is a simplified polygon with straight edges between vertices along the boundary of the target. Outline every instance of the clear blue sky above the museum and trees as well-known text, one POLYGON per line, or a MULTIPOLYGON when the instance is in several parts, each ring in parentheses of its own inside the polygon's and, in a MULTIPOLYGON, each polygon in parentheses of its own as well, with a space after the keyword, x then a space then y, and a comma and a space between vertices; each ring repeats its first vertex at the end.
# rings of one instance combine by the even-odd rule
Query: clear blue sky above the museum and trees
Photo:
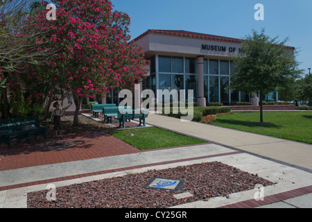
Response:
POLYGON ((114 10, 131 19, 132 39, 148 29, 184 30, 211 35, 242 38, 266 28, 266 35, 294 46, 307 74, 312 68, 311 0, 111 0, 114 10), (254 19, 254 6, 264 6, 264 20, 254 19))

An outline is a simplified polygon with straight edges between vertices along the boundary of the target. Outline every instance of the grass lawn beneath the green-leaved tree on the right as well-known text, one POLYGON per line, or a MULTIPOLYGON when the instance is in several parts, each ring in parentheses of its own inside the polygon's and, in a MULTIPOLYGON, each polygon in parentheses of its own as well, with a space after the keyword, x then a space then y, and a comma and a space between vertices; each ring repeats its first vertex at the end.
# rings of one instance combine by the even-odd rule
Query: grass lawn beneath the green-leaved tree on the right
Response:
POLYGON ((216 126, 312 144, 311 111, 263 112, 263 122, 272 124, 259 124, 259 120, 259 112, 234 112, 217 117, 216 126))

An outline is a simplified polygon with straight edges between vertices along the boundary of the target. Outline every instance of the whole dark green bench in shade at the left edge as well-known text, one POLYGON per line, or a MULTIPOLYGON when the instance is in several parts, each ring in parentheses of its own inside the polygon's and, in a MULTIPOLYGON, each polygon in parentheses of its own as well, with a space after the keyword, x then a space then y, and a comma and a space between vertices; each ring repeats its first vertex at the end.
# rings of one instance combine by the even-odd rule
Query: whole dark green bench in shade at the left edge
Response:
POLYGON ((48 126, 39 126, 36 116, 3 119, 0 121, 0 144, 6 143, 9 148, 12 148, 12 142, 27 140, 30 143, 31 138, 40 136, 44 136, 46 139, 46 128, 48 126))

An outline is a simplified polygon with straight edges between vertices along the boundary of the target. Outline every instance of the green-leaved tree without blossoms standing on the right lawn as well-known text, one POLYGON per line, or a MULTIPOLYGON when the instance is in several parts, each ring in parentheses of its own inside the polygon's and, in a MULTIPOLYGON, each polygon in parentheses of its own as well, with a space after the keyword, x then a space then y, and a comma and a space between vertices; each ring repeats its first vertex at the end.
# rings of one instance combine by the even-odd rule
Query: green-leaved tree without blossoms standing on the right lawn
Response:
POLYGON ((263 95, 275 92, 290 80, 298 78, 302 70, 295 60, 297 52, 285 46, 285 40, 269 37, 262 29, 253 30, 242 40, 243 53, 234 58, 234 71, 231 74, 231 88, 246 93, 259 94, 260 122, 263 123, 263 95))

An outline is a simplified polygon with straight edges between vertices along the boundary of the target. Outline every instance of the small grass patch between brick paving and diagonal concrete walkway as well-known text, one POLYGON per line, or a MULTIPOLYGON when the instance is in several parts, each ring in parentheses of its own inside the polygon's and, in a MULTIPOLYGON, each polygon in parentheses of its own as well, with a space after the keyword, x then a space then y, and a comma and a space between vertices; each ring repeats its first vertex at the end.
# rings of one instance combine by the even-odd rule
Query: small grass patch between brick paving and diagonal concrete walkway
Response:
POLYGON ((153 148, 206 143, 205 141, 202 141, 200 139, 187 137, 156 127, 114 130, 110 132, 110 134, 123 140, 123 142, 135 146, 141 151, 153 148), (130 134, 133 134, 133 136, 127 136, 130 134))

